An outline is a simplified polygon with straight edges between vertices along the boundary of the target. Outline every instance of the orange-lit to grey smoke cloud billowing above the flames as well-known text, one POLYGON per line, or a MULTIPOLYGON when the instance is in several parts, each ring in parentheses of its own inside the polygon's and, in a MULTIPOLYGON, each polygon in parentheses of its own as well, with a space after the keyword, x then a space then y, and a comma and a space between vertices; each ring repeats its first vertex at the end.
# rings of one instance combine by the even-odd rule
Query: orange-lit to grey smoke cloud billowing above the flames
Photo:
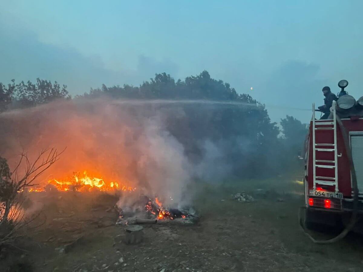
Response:
MULTIPOLYGON (((21 152, 32 161, 42 149, 65 149, 37 184, 87 171, 181 203, 190 198, 185 192, 193 176, 203 177, 208 166, 223 157, 217 145, 206 141, 199 164, 188 159, 183 144, 166 125, 171 115, 177 120, 183 114, 178 107, 107 99, 57 101, 13 110, 0 115, 0 156, 14 167, 21 152)), ((222 174, 228 167, 220 164, 215 170, 222 174)))

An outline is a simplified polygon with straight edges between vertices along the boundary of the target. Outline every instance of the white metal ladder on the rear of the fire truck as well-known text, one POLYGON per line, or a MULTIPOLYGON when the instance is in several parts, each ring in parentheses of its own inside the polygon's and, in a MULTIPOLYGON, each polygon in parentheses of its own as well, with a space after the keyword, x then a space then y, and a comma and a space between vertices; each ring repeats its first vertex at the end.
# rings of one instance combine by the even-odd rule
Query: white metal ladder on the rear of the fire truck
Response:
POLYGON ((315 104, 313 104, 313 176, 314 176, 314 187, 313 190, 316 190, 317 185, 334 185, 335 191, 338 192, 338 157, 342 156, 338 155, 337 150, 337 113, 335 110, 336 102, 333 101, 333 120, 315 120, 315 104), (334 133, 334 143, 316 143, 315 142, 315 133, 320 130, 326 130, 334 133), (317 152, 334 152, 334 161, 331 160, 317 160, 316 154, 317 152), (326 164, 321 164, 326 163, 326 164), (330 168, 334 169, 333 177, 322 177, 316 176, 317 168, 330 168))

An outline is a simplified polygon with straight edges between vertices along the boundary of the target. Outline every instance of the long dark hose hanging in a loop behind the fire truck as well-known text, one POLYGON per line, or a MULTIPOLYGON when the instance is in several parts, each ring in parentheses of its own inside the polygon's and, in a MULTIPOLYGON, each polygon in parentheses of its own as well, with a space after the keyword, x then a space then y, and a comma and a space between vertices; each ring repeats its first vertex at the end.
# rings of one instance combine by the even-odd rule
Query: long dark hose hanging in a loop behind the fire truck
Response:
POLYGON ((352 158, 352 151, 351 151, 350 145, 349 145, 349 136, 342 123, 342 120, 340 120, 340 118, 338 116, 337 116, 337 122, 339 124, 340 131, 342 132, 342 135, 343 135, 344 147, 346 149, 347 157, 348 157, 348 161, 349 161, 349 165, 350 165, 350 172, 351 172, 352 186, 353 186, 353 210, 352 210, 350 222, 347 224, 347 226, 344 228, 344 230, 342 232, 340 232, 340 234, 338 234, 336 237, 334 237, 332 239, 316 240, 307 232, 305 225, 303 224, 303 222, 301 222, 301 209, 302 209, 302 207, 301 207, 298 212, 299 224, 300 224, 302 230, 304 231, 304 233, 307 235, 307 237, 309 237, 310 240, 313 241, 315 244, 331 244, 331 243, 337 242, 338 240, 344 238, 348 234, 348 232, 350 232, 352 230, 352 228, 354 227, 356 220, 357 220, 358 185, 357 185, 357 177, 355 174, 355 168, 354 168, 354 163, 353 163, 353 158, 352 158))

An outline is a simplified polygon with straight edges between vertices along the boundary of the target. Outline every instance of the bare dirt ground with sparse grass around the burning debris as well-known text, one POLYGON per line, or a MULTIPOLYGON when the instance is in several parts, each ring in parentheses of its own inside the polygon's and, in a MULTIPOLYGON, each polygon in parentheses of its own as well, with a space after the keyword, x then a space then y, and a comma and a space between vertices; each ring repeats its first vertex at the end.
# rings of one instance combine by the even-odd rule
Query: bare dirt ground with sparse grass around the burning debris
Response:
MULTIPOLYGON (((53 195, 44 209, 46 222, 30 235, 33 242, 21 259, 33 271, 363 271, 361 236, 316 245, 303 234, 297 219, 302 196, 251 203, 231 198, 266 184, 203 185, 194 203, 199 222, 143 225, 144 241, 137 245, 120 240, 124 227, 115 225, 111 209, 117 198, 53 195)), ((286 188, 283 182, 268 186, 280 193, 279 186, 286 188)), ((289 191, 302 187, 294 184, 289 191)))

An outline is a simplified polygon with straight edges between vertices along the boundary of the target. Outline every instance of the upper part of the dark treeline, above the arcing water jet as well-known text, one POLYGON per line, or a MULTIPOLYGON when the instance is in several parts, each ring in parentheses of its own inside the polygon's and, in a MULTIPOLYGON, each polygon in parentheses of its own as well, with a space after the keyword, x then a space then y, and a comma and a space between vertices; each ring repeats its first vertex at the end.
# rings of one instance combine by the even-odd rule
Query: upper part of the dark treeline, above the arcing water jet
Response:
MULTIPOLYGON (((237 94, 229 83, 211 78, 207 71, 197 76, 190 76, 184 81, 175 81, 169 74, 156 74, 150 81, 144 81, 140 86, 102 85, 102 88, 91 88, 88 93, 76 95, 76 98, 98 98, 108 96, 124 99, 206 99, 218 101, 239 101, 258 104, 248 94, 237 94)), ((0 112, 9 108, 31 107, 48 103, 56 99, 71 99, 67 86, 39 79, 35 84, 24 81, 15 84, 13 79, 8 85, 0 83, 0 112)))

